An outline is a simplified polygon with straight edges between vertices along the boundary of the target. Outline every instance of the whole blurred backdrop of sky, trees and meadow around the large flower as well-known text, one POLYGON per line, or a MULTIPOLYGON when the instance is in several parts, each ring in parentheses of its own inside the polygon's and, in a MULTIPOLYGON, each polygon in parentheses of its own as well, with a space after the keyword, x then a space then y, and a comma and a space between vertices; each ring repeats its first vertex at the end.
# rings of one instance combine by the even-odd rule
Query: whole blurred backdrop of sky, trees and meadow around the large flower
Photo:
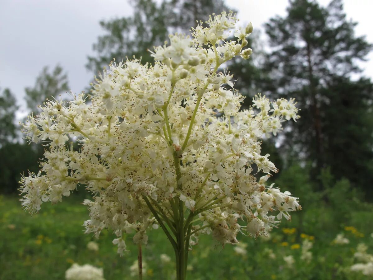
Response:
MULTIPOLYGON (((370 0, 1 0, 0 279, 64 279, 75 262, 102 267, 106 279, 137 279, 130 237, 120 258, 110 232, 83 234, 84 190, 32 217, 22 211, 20 174, 38 171, 44 147, 25 143, 18 123, 51 96, 88 93, 113 57, 152 63, 147 49, 222 10, 254 25, 253 55, 225 65, 243 107, 256 93, 298 101, 301 119, 262 150, 280 170, 272 182, 303 210, 266 239, 241 236, 222 249, 201 238, 190 279, 372 278, 372 9, 370 0)), ((150 235, 145 279, 173 279, 163 232, 150 235)))

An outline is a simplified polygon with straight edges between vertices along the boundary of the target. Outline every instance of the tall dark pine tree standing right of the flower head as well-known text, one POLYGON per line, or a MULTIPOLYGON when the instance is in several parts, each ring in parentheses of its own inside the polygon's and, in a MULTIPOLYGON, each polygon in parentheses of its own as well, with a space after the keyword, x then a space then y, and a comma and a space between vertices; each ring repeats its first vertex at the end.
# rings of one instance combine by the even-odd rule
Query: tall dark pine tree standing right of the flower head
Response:
MULTIPOLYGON (((367 113, 367 102, 361 106, 361 103, 349 99, 347 108, 336 100, 336 96, 342 98, 343 88, 339 83, 343 82, 353 90, 350 92, 353 100, 372 100, 370 81, 350 81, 352 74, 361 71, 357 61, 365 60, 372 49, 364 37, 355 36, 355 26, 355 22, 346 19, 341 0, 333 0, 327 7, 312 0, 292 0, 286 17, 276 16, 266 24, 272 47, 266 63, 272 82, 267 84, 266 90, 272 97, 294 96, 302 110, 301 119, 288 129, 283 146, 311 160, 315 176, 326 165, 335 164, 330 155, 341 152, 332 139, 347 137, 342 133, 346 124, 333 123, 336 115, 332 117, 331 110, 343 114, 345 120, 350 121, 354 120, 355 112, 367 113), (360 91, 361 87, 365 88, 364 93, 360 91)), ((372 143, 372 136, 359 139, 359 145, 354 148, 369 146, 368 142, 372 143)), ((340 156, 347 160, 345 151, 340 156)), ((348 160, 347 165, 357 166, 357 158, 348 160)), ((351 173, 344 175, 352 179, 355 175, 351 173)))

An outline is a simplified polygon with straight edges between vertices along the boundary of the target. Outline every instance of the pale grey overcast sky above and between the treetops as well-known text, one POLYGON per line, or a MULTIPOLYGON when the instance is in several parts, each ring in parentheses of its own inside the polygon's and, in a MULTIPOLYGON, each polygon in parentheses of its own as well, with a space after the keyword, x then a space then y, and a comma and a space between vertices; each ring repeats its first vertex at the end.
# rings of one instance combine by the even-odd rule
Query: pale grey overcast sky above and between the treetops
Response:
MULTIPOLYGON (((240 24, 261 28, 272 16, 285 15, 288 0, 226 0, 238 10, 240 24)), ((326 5, 329 0, 319 0, 326 5)), ((345 0, 347 17, 357 21, 357 35, 373 42, 372 0, 345 0)), ((0 0, 0 87, 10 88, 24 108, 24 88, 32 87, 43 66, 59 63, 73 92, 83 90, 92 73, 85 69, 92 44, 102 34, 102 19, 129 16, 126 0, 0 0)), ((373 61, 373 54, 369 56, 373 61)), ((373 65, 361 64, 373 78, 373 65)))

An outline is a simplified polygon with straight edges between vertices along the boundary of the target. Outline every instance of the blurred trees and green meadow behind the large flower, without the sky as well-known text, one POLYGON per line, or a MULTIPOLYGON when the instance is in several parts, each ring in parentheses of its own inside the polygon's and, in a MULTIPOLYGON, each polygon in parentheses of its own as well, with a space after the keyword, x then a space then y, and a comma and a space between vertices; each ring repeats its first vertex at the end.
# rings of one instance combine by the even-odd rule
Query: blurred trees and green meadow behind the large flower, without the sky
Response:
MULTIPOLYGON (((152 63, 147 49, 163 44, 169 32, 187 33, 197 19, 229 10, 223 0, 131 3, 133 16, 100 22, 105 34, 87 62, 93 74, 113 57, 136 55, 152 63)), ((209 236, 201 238, 190 260, 193 279, 366 279, 349 269, 358 262, 359 243, 373 252, 373 84, 357 65, 372 44, 354 34, 355 25, 346 19, 341 0, 327 7, 292 0, 286 16, 266 24, 270 51, 256 52, 264 46, 254 45, 253 59, 229 65, 238 80, 235 88, 247 96, 245 107, 257 92, 298 101, 301 119, 262 147, 280 169, 272 181, 299 196, 303 210, 267 240, 242 236, 240 245, 222 249, 209 236), (349 243, 333 242, 341 233, 349 243), (312 245, 306 250, 311 257, 304 240, 312 245)), ((35 86, 25 89, 30 113, 68 88, 60 66, 44 68, 35 86)), ((84 190, 68 203, 44 206, 38 215, 22 211, 16 196, 20 174, 38 170, 43 146, 21 140, 17 109, 11 89, 0 89, 0 279, 63 279, 73 262, 103 267, 106 279, 135 279, 135 246, 120 258, 107 232, 97 240, 98 252, 87 249, 93 236, 83 234, 84 190)), ((164 261, 163 253, 172 256, 162 232, 154 230, 144 251, 147 279, 172 279, 173 260, 164 261)))

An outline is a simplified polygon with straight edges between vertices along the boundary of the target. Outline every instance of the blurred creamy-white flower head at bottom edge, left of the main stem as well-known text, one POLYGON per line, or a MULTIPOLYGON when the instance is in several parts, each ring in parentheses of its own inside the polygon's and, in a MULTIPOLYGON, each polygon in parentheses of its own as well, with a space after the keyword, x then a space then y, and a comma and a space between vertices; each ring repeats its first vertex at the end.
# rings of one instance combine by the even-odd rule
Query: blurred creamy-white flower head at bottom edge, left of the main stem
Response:
POLYGON ((66 280, 105 280, 104 270, 90 264, 73 264, 65 272, 66 280))

